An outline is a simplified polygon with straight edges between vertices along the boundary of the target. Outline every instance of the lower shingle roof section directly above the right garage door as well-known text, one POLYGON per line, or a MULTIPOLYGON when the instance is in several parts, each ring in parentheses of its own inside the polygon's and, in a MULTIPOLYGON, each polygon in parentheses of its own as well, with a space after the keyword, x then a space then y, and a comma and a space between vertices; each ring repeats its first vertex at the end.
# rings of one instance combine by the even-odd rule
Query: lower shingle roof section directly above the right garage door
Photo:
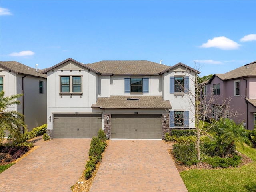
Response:
POLYGON ((93 108, 102 109, 171 109, 170 101, 163 100, 162 96, 110 96, 98 98, 93 108), (139 100, 127 100, 139 99, 139 100))

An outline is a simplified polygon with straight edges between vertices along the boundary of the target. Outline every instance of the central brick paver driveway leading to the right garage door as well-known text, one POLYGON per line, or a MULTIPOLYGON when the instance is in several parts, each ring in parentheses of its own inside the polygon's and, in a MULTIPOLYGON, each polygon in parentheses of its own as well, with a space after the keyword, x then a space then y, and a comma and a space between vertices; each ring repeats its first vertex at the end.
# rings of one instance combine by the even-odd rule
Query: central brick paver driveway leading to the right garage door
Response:
POLYGON ((187 192, 162 140, 110 140, 90 192, 187 192))

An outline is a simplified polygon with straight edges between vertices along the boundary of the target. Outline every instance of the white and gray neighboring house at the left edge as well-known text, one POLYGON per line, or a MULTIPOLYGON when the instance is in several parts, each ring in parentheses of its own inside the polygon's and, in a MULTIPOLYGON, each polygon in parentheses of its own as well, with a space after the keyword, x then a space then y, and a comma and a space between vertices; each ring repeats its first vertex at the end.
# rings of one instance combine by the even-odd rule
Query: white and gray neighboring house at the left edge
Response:
POLYGON ((28 131, 47 121, 47 76, 16 61, 0 61, 0 91, 5 96, 23 93, 20 105, 10 106, 25 116, 28 131))

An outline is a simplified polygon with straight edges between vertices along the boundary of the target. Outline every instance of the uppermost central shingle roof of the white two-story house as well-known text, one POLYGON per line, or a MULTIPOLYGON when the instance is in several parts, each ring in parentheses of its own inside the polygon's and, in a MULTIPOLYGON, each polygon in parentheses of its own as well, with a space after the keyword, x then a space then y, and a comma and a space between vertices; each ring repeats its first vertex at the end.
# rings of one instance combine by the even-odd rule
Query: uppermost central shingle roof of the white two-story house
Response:
POLYGON ((114 75, 158 75, 170 66, 150 61, 100 61, 86 64, 102 74, 114 75))

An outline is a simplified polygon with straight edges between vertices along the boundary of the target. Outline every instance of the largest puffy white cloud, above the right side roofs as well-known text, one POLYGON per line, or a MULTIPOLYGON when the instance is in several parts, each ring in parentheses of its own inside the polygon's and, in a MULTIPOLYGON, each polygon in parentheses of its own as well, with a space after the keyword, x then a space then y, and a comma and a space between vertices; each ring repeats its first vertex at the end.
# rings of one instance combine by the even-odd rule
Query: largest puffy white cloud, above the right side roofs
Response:
POLYGON ((214 37, 213 39, 209 39, 207 43, 202 44, 200 47, 202 48, 209 48, 209 47, 216 47, 222 50, 233 50, 238 49, 240 44, 234 42, 231 39, 228 39, 224 36, 222 37, 214 37))

